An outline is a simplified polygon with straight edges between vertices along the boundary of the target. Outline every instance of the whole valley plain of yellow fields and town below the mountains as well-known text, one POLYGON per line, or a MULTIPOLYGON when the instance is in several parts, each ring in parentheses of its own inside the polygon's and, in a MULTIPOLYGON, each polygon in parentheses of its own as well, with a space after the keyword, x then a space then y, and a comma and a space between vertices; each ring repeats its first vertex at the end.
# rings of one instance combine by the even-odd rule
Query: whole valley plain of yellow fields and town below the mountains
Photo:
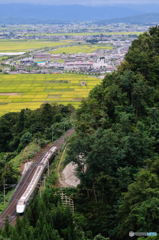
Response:
POLYGON ((143 29, 83 23, 1 27, 0 116, 46 102, 78 107, 116 70, 143 29))

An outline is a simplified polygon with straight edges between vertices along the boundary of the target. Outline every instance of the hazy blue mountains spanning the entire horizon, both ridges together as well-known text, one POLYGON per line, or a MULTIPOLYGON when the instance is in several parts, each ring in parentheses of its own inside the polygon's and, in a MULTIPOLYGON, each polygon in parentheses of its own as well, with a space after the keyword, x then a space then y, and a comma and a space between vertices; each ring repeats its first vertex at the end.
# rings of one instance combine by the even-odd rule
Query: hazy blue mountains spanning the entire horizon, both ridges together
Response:
POLYGON ((0 24, 158 22, 159 4, 116 4, 105 6, 0 4, 0 24), (156 12, 156 14, 151 14, 156 12), (146 15, 145 15, 146 14, 146 15), (142 16, 141 16, 142 15, 142 16), (135 16, 135 17, 134 17, 135 16))

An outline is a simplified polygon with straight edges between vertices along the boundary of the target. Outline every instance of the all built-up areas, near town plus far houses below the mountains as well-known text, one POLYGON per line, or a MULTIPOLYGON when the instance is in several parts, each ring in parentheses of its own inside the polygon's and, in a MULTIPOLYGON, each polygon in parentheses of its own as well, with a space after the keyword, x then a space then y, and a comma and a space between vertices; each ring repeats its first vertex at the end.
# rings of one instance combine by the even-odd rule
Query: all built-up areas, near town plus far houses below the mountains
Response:
MULTIPOLYGON (((86 44, 98 44, 103 48, 97 49, 92 53, 76 53, 76 54, 55 54, 53 49, 37 49, 23 55, 11 57, 1 61, 3 64, 2 72, 5 73, 63 73, 78 72, 87 74, 99 74, 112 72, 123 61, 132 41, 137 37, 133 34, 102 34, 102 31, 120 32, 120 31, 144 31, 148 26, 112 24, 108 26, 90 25, 87 23, 68 24, 68 25, 29 25, 29 26, 3 26, 0 38, 4 38, 3 34, 8 35, 8 39, 43 39, 46 37, 51 41, 76 40, 74 44, 78 45, 78 41, 86 44), (89 28, 88 28, 89 27, 89 28), (3 31, 4 28, 4 31, 3 31), (72 30, 73 29, 73 30, 72 30), (7 31, 6 31, 7 30, 7 31), (80 32, 97 32, 98 34, 73 34, 67 35, 71 31, 80 32), (100 33, 101 31, 101 33, 100 33), (56 34, 51 34, 56 32, 56 34), (58 33, 66 32, 66 34, 58 33), (39 34, 40 33, 40 34, 39 34), (49 35, 50 33, 50 35, 49 35), (43 35, 44 34, 44 35, 43 35), (104 46, 112 46, 112 49, 104 49, 104 46)), ((6 35, 5 35, 6 37, 6 35)), ((7 37, 6 37, 7 38, 7 37)), ((71 46, 71 45, 70 45, 71 46)), ((68 46, 69 47, 69 46, 68 46)), ((1 67, 0 67, 1 70, 1 67)))

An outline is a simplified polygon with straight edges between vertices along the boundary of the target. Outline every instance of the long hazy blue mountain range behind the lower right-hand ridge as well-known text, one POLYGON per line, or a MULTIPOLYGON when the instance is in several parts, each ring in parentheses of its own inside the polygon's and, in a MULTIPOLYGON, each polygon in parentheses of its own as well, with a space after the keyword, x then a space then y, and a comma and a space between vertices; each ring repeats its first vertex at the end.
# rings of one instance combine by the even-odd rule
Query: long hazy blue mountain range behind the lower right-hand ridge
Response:
POLYGON ((124 18, 142 13, 125 5, 116 6, 48 6, 35 4, 0 4, 0 24, 63 23, 124 18))

